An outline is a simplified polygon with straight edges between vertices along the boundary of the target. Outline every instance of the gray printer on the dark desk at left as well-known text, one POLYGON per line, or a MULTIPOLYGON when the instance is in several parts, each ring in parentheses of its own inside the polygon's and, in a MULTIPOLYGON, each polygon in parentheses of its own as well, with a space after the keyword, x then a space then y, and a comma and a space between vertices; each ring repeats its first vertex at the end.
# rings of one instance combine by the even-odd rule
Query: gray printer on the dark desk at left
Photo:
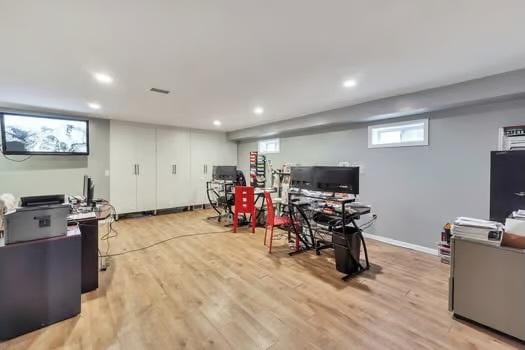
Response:
POLYGON ((67 233, 67 203, 16 208, 5 214, 5 244, 63 236, 67 233))

